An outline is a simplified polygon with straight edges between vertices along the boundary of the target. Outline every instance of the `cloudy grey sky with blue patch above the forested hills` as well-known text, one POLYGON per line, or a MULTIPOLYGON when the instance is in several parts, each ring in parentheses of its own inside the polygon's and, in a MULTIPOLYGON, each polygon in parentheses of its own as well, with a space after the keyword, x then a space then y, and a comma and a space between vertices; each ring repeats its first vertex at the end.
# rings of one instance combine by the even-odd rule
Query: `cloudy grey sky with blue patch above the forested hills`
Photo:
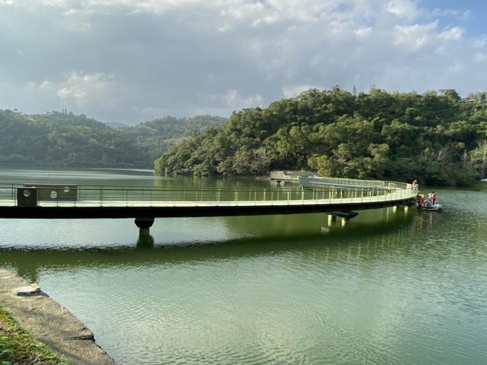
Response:
POLYGON ((487 85, 477 0, 0 0, 0 108, 228 117, 339 85, 487 85))

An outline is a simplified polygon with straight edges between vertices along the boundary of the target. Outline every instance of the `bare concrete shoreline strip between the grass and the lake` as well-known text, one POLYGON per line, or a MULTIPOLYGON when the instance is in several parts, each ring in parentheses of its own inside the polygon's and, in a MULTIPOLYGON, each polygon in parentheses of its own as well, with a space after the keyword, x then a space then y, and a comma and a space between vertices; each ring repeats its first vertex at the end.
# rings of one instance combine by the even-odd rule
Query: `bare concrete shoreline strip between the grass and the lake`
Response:
POLYGON ((0 303, 23 330, 73 364, 115 365, 88 327, 42 290, 30 296, 13 293, 29 285, 17 274, 0 269, 0 303))

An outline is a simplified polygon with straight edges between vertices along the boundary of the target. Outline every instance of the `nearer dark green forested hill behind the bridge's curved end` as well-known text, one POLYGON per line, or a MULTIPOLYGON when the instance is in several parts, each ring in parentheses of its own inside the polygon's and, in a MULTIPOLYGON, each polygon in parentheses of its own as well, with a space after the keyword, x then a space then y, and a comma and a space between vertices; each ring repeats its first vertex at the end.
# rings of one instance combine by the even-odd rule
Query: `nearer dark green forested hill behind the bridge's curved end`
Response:
POLYGON ((264 109, 234 112, 223 126, 173 145, 155 167, 202 175, 315 170, 464 185, 487 173, 487 104, 485 93, 474 96, 464 102, 455 90, 308 90, 264 109))

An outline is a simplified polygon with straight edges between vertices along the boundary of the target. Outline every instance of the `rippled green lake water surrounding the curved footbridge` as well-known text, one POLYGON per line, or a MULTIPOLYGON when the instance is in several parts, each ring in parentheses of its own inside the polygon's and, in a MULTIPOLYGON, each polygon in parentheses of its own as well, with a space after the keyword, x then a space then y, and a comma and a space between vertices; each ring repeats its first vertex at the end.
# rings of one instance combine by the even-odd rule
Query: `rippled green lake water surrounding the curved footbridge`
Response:
MULTIPOLYGON (((149 171, 0 169, 1 182, 268 187, 149 171)), ((428 191, 428 190, 427 190, 428 191)), ((444 211, 0 219, 0 267, 39 283, 118 364, 487 363, 487 182, 444 211)))

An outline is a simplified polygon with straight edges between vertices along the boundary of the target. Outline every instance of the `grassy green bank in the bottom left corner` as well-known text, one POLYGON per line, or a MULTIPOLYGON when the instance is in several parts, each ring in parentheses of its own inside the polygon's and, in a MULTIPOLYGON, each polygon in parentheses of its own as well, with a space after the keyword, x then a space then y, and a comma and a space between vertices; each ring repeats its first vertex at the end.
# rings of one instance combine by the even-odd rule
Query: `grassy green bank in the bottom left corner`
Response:
POLYGON ((22 330, 0 305, 0 365, 13 364, 69 365, 70 362, 22 330))

